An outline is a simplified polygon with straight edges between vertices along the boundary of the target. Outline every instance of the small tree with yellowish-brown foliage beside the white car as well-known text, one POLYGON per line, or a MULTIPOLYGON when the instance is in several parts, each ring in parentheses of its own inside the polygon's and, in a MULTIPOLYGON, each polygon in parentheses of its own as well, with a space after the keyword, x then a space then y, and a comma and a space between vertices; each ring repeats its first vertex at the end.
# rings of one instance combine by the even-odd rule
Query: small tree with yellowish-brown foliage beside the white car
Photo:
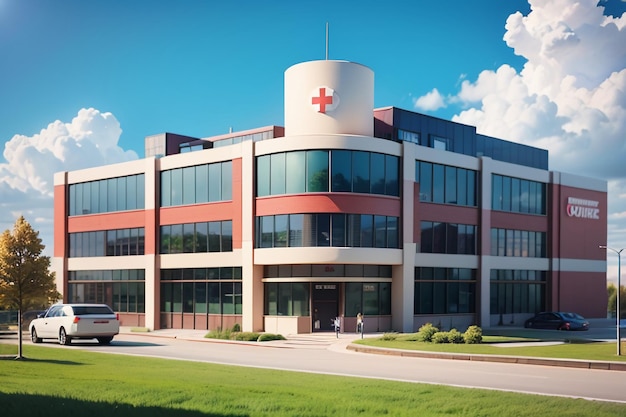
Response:
POLYGON ((18 353, 22 359, 22 316, 61 297, 56 290, 50 258, 42 256, 45 246, 39 232, 20 216, 13 231, 0 235, 0 306, 18 311, 18 353))

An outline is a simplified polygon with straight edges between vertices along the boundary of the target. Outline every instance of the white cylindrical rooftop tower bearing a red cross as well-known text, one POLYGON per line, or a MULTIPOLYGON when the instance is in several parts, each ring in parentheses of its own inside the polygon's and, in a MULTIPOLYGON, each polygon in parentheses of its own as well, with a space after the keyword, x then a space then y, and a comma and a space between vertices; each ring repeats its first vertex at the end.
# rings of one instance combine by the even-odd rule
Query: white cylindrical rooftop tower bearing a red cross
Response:
POLYGON ((374 72, 348 61, 310 61, 285 71, 285 136, 374 134, 374 72))

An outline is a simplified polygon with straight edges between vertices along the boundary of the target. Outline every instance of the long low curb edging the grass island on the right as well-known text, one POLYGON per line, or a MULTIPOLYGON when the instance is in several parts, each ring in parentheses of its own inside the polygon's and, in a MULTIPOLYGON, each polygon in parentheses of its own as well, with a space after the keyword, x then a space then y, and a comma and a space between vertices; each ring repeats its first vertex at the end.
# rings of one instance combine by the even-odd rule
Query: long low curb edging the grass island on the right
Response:
POLYGON ((448 359, 475 362, 516 363, 521 365, 560 366, 564 368, 599 369, 604 371, 626 371, 626 362, 586 361, 577 359, 551 359, 531 356, 477 355, 471 353, 425 352, 363 346, 350 343, 347 350, 376 355, 391 355, 407 358, 448 359))

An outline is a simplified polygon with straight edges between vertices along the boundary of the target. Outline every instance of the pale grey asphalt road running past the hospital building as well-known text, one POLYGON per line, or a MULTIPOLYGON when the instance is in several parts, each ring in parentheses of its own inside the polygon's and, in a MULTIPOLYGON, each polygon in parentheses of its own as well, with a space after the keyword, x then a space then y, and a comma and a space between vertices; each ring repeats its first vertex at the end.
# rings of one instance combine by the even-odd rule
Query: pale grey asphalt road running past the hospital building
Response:
POLYGON ((334 333, 300 335, 256 344, 212 341, 202 334, 122 333, 109 346, 90 341, 73 341, 70 347, 47 341, 44 346, 626 403, 622 371, 356 353, 345 349, 355 334, 339 339, 334 333))

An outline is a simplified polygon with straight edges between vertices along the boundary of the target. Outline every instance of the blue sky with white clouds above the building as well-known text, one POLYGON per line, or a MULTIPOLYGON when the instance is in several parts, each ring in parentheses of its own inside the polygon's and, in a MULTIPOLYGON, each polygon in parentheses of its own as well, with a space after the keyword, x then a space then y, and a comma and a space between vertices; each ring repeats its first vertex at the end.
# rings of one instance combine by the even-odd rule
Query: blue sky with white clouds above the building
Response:
POLYGON ((155 133, 282 125, 284 71, 324 59, 328 22, 329 57, 373 69, 376 107, 475 125, 548 149, 553 170, 609 181, 609 245, 625 247, 625 11, 621 0, 0 0, 0 230, 23 214, 51 253, 54 172, 143 157, 155 133))

